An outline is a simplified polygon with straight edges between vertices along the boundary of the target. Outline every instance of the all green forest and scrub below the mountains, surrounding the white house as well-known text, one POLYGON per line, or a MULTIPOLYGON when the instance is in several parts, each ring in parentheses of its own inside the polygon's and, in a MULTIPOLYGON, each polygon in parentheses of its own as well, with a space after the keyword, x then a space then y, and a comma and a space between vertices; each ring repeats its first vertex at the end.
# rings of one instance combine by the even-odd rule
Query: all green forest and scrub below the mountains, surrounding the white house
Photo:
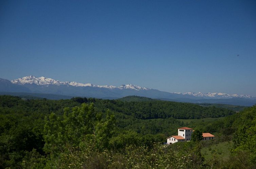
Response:
POLYGON ((149 98, 48 100, 3 95, 0 121, 3 169, 255 168, 256 164, 256 106, 236 112, 228 106, 149 98), (163 144, 185 126, 216 138, 163 144))

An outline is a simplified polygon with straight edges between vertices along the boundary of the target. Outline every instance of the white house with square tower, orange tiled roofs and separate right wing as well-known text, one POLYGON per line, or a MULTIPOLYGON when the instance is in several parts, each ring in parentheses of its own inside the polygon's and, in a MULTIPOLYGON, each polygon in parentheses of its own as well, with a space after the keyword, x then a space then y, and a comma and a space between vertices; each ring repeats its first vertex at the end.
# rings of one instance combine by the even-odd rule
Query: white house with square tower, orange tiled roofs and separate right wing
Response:
MULTIPOLYGON (((176 142, 185 142, 191 140, 191 135, 193 133, 193 129, 188 127, 182 127, 178 129, 178 135, 172 135, 170 137, 167 137, 167 144, 173 144, 176 142)), ((214 139, 214 135, 211 133, 202 133, 203 134, 203 140, 210 140, 214 139)))

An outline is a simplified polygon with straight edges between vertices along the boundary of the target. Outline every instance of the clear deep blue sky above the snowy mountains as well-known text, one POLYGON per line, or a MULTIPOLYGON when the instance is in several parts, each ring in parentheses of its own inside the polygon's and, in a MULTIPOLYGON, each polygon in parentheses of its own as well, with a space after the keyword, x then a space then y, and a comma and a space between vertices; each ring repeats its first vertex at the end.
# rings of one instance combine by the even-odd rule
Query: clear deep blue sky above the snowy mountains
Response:
POLYGON ((0 77, 28 75, 256 96, 256 1, 2 0, 0 77))

